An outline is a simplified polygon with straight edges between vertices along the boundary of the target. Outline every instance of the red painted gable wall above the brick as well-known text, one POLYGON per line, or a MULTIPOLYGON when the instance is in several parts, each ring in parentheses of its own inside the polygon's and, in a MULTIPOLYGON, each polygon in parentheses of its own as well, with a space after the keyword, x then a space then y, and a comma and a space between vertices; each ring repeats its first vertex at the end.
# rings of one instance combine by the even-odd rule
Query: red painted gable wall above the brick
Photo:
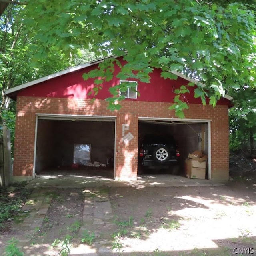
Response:
MULTIPOLYGON (((97 68, 97 64, 78 70, 72 73, 65 74, 48 81, 35 84, 18 92, 18 96, 33 96, 33 97, 52 97, 52 98, 79 98, 91 99, 93 94, 88 95, 94 88, 94 79, 90 78, 83 80, 82 74, 92 69, 97 68)), ((119 68, 116 67, 114 78, 110 82, 104 82, 103 89, 99 90, 97 99, 106 99, 111 97, 108 88, 119 84, 119 79, 116 75, 119 68)), ((140 96, 138 99, 126 99, 145 102, 173 102, 175 96, 174 90, 181 85, 187 85, 188 81, 178 77, 177 80, 170 80, 161 78, 161 70, 155 69, 150 74, 150 84, 138 82, 138 92, 140 96)), ((200 99, 194 98, 194 88, 189 87, 190 93, 183 97, 184 102, 189 104, 201 104, 200 99)), ((229 100, 222 99, 218 102, 221 105, 229 105, 229 100)))

